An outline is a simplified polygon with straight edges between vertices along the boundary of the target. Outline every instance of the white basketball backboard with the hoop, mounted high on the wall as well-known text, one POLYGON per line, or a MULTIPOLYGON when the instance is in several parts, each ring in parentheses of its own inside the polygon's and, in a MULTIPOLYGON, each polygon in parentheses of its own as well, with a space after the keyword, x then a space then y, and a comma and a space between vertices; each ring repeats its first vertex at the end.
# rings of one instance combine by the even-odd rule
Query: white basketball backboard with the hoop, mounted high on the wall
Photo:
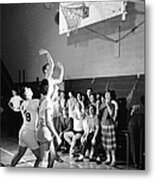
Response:
POLYGON ((127 2, 96 1, 67 2, 59 5, 59 34, 122 15, 125 20, 127 2), (64 12, 65 11, 67 12, 64 12))

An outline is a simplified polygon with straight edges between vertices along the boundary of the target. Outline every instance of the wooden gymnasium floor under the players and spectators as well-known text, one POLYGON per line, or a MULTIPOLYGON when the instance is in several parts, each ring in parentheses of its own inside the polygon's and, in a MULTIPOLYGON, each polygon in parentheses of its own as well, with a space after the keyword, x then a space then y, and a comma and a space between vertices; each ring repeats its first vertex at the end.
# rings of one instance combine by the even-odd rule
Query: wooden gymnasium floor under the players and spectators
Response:
MULTIPOLYGON (((9 167, 10 162, 18 150, 17 140, 13 138, 1 138, 1 147, 0 147, 0 163, 1 166, 9 167)), ((68 154, 60 153, 63 163, 54 163, 53 168, 61 169, 103 169, 103 170, 135 170, 134 168, 127 167, 125 163, 117 162, 115 167, 111 167, 105 164, 97 165, 96 162, 89 162, 84 160, 83 162, 75 162, 75 158, 69 158, 68 154)), ((24 157, 20 160, 17 167, 33 167, 35 157, 32 152, 28 149, 24 157)))

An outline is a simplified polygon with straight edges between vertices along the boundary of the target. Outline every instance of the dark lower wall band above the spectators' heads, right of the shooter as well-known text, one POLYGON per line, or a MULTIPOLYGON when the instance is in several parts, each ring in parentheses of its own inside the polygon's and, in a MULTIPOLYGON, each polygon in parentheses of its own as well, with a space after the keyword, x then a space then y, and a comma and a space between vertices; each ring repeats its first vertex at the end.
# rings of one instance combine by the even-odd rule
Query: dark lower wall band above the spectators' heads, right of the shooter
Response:
POLYGON ((65 81, 66 92, 73 91, 75 93, 86 93, 87 88, 91 88, 94 93, 104 93, 108 87, 115 90, 117 98, 126 98, 133 89, 133 86, 138 81, 132 99, 132 104, 140 103, 140 97, 145 94, 145 76, 119 76, 119 77, 104 77, 104 78, 89 78, 89 79, 74 79, 65 81))

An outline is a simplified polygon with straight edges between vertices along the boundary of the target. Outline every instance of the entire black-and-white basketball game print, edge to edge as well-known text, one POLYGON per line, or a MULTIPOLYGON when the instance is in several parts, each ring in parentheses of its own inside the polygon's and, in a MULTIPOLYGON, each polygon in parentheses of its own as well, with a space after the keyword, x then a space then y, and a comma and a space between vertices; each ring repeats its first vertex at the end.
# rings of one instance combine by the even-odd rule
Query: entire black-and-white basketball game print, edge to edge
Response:
POLYGON ((146 170, 145 3, 0 3, 0 168, 146 170))

